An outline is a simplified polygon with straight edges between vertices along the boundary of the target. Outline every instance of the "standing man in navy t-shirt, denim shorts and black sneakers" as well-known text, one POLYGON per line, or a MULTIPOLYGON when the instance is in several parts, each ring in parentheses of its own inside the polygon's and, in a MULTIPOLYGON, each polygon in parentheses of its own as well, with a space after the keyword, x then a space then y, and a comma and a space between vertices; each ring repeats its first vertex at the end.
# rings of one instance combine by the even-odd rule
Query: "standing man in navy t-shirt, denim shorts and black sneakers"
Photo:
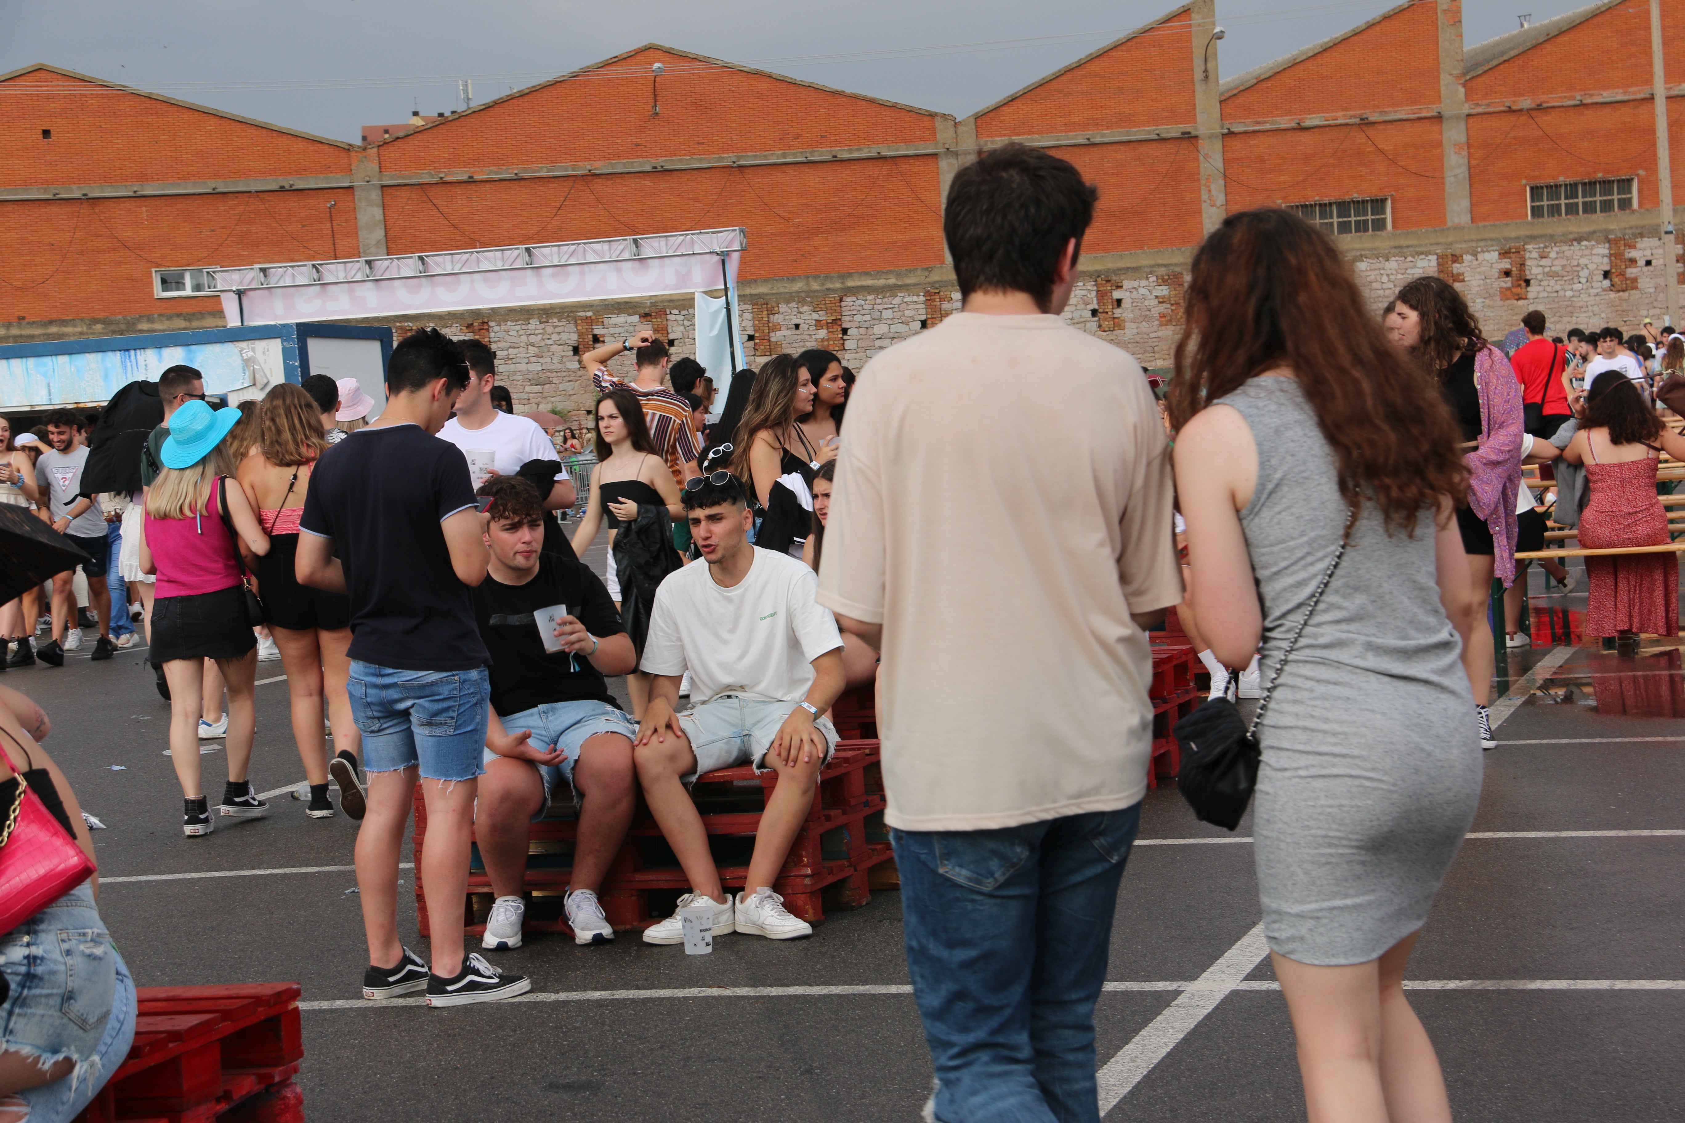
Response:
POLYGON ((362 731, 369 810, 357 889, 369 939, 364 998, 426 992, 430 1007, 532 988, 479 955, 463 961, 473 796, 484 771, 487 653, 468 589, 485 579, 485 517, 462 451, 435 433, 468 384, 448 337, 415 332, 393 349, 386 409, 329 448, 300 519, 300 584, 350 596, 350 711, 362 731), (409 793, 423 780, 433 970, 398 943, 398 855, 409 793))

